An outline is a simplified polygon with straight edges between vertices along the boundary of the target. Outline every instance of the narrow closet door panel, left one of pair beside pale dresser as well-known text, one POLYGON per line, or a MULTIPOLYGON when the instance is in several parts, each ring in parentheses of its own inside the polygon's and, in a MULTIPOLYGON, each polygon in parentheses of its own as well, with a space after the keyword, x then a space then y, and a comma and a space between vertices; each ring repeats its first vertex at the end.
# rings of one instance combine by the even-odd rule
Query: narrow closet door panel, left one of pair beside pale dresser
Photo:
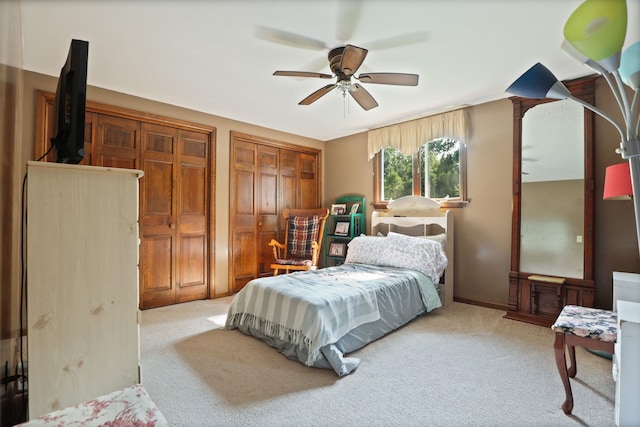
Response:
POLYGON ((175 128, 143 123, 140 180, 140 307, 176 301, 179 257, 176 215, 175 128))

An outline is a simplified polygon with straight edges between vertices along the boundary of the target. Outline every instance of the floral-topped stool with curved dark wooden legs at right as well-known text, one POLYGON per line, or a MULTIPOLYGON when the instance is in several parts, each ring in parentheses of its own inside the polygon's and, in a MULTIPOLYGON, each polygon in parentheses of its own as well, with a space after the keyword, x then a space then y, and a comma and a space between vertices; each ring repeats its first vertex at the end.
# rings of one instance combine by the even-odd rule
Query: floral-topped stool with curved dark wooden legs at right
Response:
POLYGON ((556 333, 553 350, 566 393, 562 410, 568 415, 573 410, 573 393, 569 377, 575 377, 577 372, 575 346, 613 354, 617 315, 611 310, 566 305, 551 329, 556 333), (569 349, 571 361, 569 368, 567 368, 565 347, 569 349))

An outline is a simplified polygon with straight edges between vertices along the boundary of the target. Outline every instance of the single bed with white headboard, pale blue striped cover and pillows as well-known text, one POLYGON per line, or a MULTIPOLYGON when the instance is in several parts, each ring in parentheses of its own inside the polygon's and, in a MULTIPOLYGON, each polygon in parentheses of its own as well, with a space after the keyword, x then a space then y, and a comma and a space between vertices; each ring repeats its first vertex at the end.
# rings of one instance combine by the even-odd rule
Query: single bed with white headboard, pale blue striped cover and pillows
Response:
POLYGON ((360 365, 349 353, 448 304, 452 267, 451 212, 425 198, 398 199, 374 212, 371 235, 349 243, 343 265, 247 283, 225 329, 342 377, 360 365))

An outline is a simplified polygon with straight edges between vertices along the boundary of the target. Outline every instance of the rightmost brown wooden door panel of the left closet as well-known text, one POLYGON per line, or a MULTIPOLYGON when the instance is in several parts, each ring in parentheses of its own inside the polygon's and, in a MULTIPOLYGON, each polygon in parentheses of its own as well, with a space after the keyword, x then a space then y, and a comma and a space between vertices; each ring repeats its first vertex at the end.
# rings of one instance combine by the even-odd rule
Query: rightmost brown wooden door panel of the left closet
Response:
POLYGON ((204 299, 208 294, 208 151, 207 135, 179 131, 176 302, 204 299))

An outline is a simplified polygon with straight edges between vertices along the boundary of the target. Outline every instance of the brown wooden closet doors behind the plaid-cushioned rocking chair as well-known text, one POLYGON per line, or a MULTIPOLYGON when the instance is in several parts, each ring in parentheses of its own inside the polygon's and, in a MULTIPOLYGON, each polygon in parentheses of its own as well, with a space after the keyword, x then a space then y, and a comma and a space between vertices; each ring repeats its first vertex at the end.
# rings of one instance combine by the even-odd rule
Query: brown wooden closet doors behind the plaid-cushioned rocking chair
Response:
POLYGON ((252 279, 270 276, 271 239, 284 242, 283 208, 320 206, 319 152, 288 144, 231 134, 229 203, 229 290, 238 292, 252 279))

